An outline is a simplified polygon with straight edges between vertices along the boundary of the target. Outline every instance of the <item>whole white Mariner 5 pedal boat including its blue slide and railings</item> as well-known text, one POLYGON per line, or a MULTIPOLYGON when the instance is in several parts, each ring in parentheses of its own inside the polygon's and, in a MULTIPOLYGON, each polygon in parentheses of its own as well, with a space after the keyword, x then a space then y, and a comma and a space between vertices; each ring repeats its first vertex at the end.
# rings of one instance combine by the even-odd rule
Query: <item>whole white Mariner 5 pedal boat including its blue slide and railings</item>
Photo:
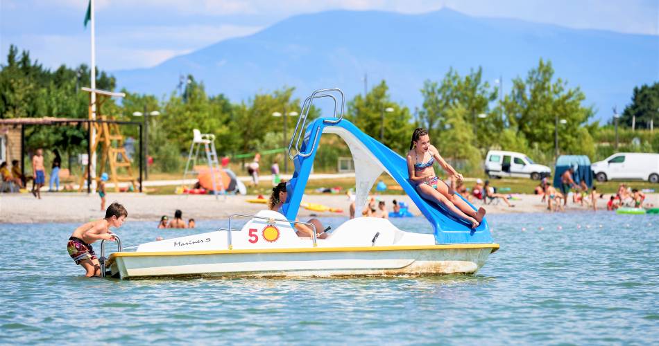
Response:
POLYGON ((101 273, 121 279, 473 274, 499 248, 486 219, 472 229, 437 203, 423 199, 408 179, 405 159, 343 119, 343 93, 339 89, 315 91, 305 100, 288 154, 295 171, 286 182, 288 194, 281 212, 231 215, 228 228, 139 244, 134 252, 122 251, 119 241, 119 251, 108 258, 102 241, 101 273), (340 103, 334 108, 334 117, 317 118, 305 127, 315 98, 338 99, 340 103), (336 116, 336 109, 341 110, 341 116, 336 116), (294 220, 325 133, 345 140, 354 158, 356 215, 366 206, 375 180, 386 172, 426 217, 433 233, 402 230, 388 219, 357 217, 337 226, 325 239, 316 239, 316 233, 310 238, 298 237, 293 227, 300 221, 294 220), (239 219, 247 222, 234 228, 239 219))

